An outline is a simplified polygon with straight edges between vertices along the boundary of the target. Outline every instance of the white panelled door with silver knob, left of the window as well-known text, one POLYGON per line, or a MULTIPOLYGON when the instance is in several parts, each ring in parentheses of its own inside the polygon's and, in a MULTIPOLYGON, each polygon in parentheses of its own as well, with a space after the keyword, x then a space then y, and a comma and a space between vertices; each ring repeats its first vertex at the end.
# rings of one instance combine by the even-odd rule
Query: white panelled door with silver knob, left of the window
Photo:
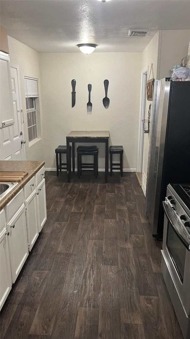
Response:
POLYGON ((13 125, 13 140, 16 160, 25 160, 25 143, 23 116, 21 112, 21 96, 19 93, 19 68, 18 65, 10 64, 11 89, 13 95, 13 110, 15 123, 13 125))

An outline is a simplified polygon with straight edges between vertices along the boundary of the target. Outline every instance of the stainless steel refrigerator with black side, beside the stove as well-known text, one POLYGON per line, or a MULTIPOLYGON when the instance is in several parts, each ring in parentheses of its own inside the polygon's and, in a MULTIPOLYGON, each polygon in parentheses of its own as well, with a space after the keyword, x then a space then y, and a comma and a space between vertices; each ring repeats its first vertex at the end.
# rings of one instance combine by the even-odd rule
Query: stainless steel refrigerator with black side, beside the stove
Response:
POLYGON ((190 81, 156 80, 152 106, 146 214, 162 238, 167 185, 190 183, 190 81))

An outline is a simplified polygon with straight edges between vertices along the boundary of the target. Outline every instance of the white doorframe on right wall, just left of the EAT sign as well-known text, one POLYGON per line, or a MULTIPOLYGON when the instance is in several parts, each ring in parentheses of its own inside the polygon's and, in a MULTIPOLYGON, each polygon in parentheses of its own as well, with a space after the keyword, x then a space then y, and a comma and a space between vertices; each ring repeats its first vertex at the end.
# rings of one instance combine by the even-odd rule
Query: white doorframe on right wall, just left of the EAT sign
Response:
POLYGON ((140 113, 139 113, 139 139, 138 139, 138 155, 137 155, 137 172, 142 173, 143 162, 143 142, 144 133, 142 129, 142 120, 145 119, 146 113, 146 82, 148 67, 141 71, 141 95, 140 95, 140 113))

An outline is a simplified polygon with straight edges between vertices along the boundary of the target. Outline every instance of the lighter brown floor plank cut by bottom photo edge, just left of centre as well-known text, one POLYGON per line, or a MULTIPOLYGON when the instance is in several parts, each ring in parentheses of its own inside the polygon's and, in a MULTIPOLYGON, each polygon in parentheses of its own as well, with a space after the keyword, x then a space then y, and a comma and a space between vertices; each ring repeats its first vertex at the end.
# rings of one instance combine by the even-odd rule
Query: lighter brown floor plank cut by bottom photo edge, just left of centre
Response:
POLYGON ((75 339, 98 338, 99 310, 79 307, 75 330, 75 339))

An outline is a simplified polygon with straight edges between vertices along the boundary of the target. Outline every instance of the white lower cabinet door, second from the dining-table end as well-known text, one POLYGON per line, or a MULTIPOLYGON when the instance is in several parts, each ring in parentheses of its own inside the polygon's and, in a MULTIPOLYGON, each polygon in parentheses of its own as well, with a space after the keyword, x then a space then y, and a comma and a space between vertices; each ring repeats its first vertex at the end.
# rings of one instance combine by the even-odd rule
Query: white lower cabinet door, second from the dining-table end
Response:
POLYGON ((29 197, 25 200, 26 206, 26 225, 28 234, 29 251, 31 251, 36 239, 38 238, 40 226, 37 195, 34 190, 29 197))

